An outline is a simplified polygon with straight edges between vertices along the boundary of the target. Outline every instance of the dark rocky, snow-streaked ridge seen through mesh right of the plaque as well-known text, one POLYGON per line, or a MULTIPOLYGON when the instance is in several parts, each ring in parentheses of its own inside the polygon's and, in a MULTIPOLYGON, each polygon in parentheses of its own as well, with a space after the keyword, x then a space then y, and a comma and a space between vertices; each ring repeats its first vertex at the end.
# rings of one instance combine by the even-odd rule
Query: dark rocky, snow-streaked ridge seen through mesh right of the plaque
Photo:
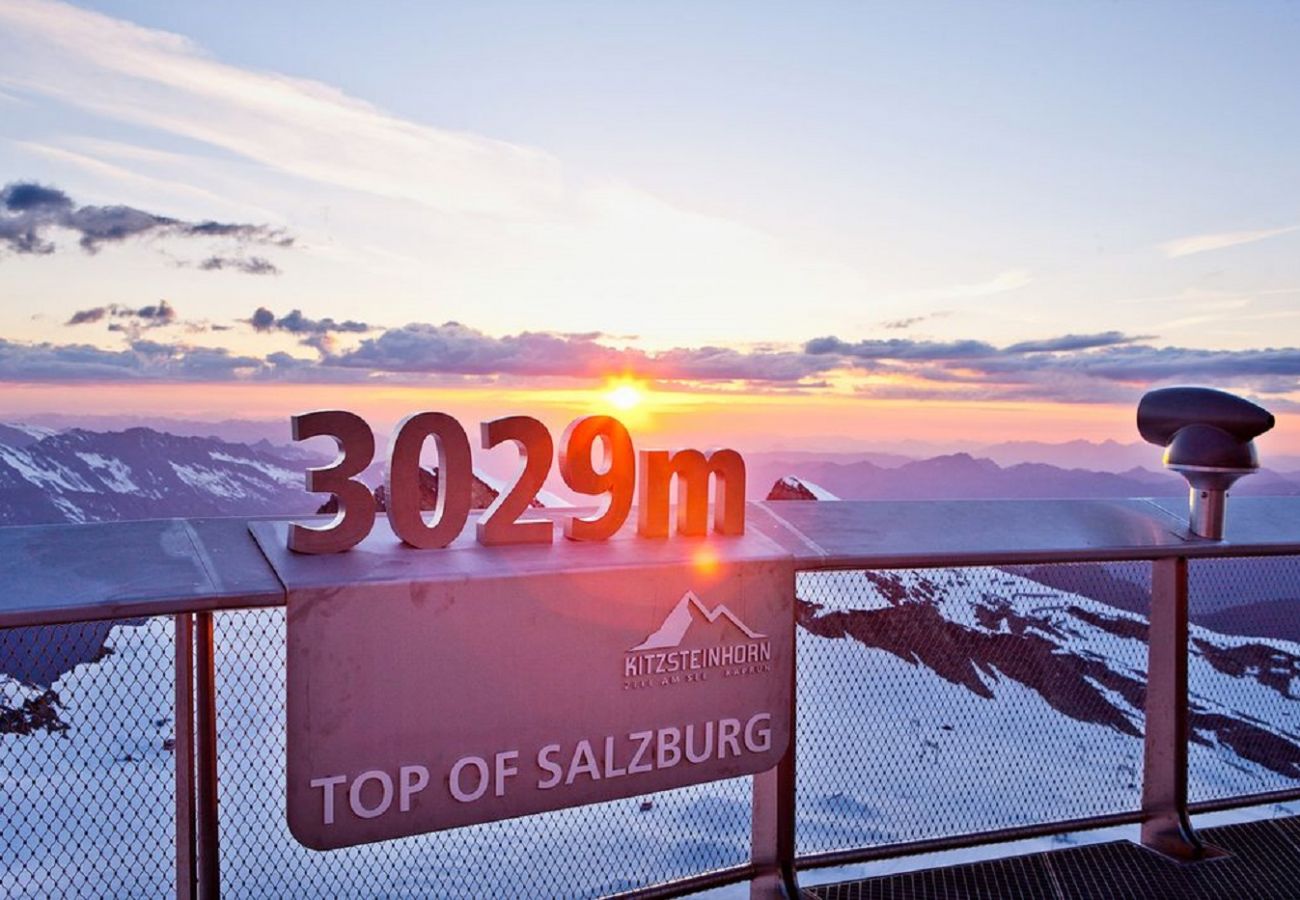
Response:
MULTIPOLYGON (((1141 735, 1144 616, 1001 570, 855 575, 855 585, 835 585, 838 602, 805 602, 801 624, 923 666, 979 697, 1001 702, 1018 684, 1058 715, 1141 735)), ((832 593, 816 577, 801 576, 801 596, 832 593)), ((1300 778, 1297 679, 1300 645, 1192 626, 1193 743, 1231 754, 1232 767, 1256 779, 1300 778)))

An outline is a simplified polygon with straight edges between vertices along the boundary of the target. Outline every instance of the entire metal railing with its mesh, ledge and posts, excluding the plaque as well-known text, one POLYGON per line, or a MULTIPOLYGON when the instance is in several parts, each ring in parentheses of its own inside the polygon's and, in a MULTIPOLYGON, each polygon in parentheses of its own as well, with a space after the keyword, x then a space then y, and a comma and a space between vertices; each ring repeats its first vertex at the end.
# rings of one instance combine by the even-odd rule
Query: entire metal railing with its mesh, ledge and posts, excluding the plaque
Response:
POLYGON ((244 523, 0 529, 0 893, 673 896, 744 880, 777 893, 797 890, 798 870, 1119 823, 1196 856, 1190 812, 1300 799, 1300 659, 1242 637, 1245 650, 1212 665, 1218 650, 1192 626, 1200 670, 1270 682, 1261 696, 1275 705, 1238 704, 1245 724, 1232 730, 1206 718, 1235 702, 1216 700, 1223 685, 1209 676, 1188 702, 1190 610, 1226 632, 1218 605, 1243 577, 1300 597, 1300 501, 1239 505, 1223 542, 1139 501, 754 506, 754 527, 800 564, 797 736, 780 766, 332 853, 292 843, 283 823, 282 593, 244 523), (1009 584, 1041 585, 1052 615, 1062 596, 1098 600, 1109 613, 1070 613, 1097 628, 1078 658, 1128 659, 1127 678, 1072 672, 1087 691, 1045 697, 1015 667, 1052 665, 1050 641, 1019 648, 1041 658, 1013 659, 954 645, 968 636, 936 631, 920 603, 915 620, 890 613, 937 590, 985 610, 967 629, 980 640, 1061 627, 1015 620, 1023 603, 998 619, 989 598, 1009 584), (1048 741, 1063 745, 1028 752, 1048 741), (1074 780, 1049 789, 1045 762, 1074 780))

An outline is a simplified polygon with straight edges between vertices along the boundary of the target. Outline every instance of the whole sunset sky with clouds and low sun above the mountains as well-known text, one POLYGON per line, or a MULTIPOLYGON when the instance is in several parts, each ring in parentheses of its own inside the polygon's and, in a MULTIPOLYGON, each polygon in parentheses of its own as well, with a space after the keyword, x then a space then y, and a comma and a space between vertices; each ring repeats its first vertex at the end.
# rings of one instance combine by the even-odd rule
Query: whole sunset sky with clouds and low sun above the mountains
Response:
POLYGON ((836 450, 1132 441, 1202 384, 1297 453, 1297 46, 1265 1, 0 0, 0 417, 836 450))

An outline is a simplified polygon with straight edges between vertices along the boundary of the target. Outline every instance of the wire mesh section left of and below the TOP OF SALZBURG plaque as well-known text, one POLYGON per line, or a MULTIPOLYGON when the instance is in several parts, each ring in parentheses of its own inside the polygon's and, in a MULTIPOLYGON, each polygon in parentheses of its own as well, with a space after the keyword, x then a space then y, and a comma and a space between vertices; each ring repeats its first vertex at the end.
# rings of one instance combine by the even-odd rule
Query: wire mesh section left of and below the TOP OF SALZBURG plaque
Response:
POLYGON ((285 822, 283 610, 216 618, 229 896, 597 896, 749 861, 750 779, 318 853, 285 822))

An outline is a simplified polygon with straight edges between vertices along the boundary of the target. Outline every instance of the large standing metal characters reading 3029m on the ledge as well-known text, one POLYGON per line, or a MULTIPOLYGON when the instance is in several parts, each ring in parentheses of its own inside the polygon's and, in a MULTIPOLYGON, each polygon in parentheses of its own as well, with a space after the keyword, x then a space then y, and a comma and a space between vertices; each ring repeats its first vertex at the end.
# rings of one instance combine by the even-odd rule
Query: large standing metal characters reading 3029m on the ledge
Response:
MULTIPOLYGON (((358 415, 342 410, 304 412, 290 419, 295 441, 332 437, 339 455, 329 466, 307 470, 307 489, 332 493, 338 514, 321 527, 292 524, 289 548, 298 553, 341 553, 361 542, 377 512, 370 489, 358 480, 374 459, 374 433, 358 415)), ((551 471, 551 433, 530 416, 507 416, 480 427, 480 443, 490 450, 514 442, 519 476, 502 490, 477 523, 480 544, 550 544, 555 523, 524 518, 551 471)), ((586 416, 564 429, 559 447, 560 477, 573 492, 603 497, 592 518, 563 519, 564 536, 575 541, 603 541, 627 522, 637 501, 637 535, 667 537, 671 490, 677 488, 677 535, 708 531, 708 484, 714 488, 712 528, 719 535, 745 533, 745 460, 734 450, 642 450, 632 446, 628 429, 612 416, 586 416), (602 459, 598 467, 597 454, 602 459), (637 480, 640 470, 641 479, 637 480)), ((473 493, 469 437, 445 412, 417 412, 403 419, 389 440, 389 524, 402 541, 420 549, 447 546, 469 519, 473 493), (437 506, 426 520, 420 509, 420 457, 433 438, 438 459, 437 506)))

